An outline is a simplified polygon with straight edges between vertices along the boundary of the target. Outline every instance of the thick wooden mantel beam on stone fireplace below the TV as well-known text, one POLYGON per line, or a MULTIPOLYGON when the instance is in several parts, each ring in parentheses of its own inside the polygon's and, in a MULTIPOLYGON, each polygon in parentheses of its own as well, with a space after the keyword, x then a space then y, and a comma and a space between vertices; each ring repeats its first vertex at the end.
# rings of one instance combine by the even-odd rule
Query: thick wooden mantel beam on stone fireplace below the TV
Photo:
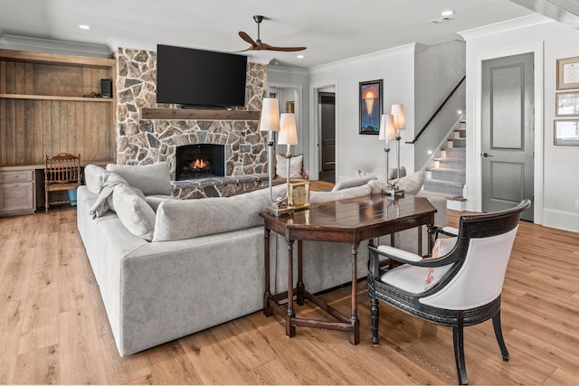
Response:
POLYGON ((141 108, 141 119, 259 120, 260 111, 203 108, 141 108))

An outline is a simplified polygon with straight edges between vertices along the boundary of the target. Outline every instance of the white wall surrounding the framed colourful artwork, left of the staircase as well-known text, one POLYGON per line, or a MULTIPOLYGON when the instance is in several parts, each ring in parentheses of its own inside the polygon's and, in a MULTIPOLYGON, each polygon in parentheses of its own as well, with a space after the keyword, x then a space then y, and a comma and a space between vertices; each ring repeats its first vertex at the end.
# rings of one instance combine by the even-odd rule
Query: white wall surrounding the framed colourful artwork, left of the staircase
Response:
MULTIPOLYGON (((353 178, 356 169, 372 171, 385 163, 384 142, 378 141, 378 136, 358 134, 359 83, 366 80, 384 80, 384 113, 395 103, 404 105, 407 128, 402 133, 400 163, 413 170, 412 146, 403 144, 414 130, 413 67, 414 44, 410 44, 310 70, 310 94, 312 88, 336 86, 337 181, 353 178)), ((395 145, 391 148, 390 165, 395 165, 395 145)))

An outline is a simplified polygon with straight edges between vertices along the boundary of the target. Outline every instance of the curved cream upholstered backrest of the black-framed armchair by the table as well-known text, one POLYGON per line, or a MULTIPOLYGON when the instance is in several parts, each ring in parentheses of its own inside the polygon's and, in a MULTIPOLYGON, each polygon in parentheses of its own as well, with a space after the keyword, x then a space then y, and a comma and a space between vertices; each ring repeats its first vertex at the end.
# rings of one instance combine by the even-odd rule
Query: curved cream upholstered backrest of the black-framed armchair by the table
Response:
POLYGON ((433 287, 438 290, 423 297, 421 303, 470 309, 496 299, 502 291, 521 212, 530 205, 523 200, 505 211, 462 216, 456 246, 450 253, 458 262, 433 287))

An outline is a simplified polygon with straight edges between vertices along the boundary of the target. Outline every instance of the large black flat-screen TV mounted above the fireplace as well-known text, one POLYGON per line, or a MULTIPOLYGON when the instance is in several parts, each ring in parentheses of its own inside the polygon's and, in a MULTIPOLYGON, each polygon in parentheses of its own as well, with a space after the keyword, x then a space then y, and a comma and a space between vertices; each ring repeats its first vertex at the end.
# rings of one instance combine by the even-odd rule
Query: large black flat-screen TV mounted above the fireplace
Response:
POLYGON ((247 56, 157 44, 157 103, 245 106, 247 56))

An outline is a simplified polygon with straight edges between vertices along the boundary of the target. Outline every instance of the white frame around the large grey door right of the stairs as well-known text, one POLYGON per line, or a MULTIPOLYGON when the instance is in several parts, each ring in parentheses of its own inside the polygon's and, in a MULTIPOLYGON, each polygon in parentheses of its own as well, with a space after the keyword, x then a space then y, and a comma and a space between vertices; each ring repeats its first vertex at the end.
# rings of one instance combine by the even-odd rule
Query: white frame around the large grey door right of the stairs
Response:
MULTIPOLYGON (((473 114, 473 135, 467 135, 467 149, 469 147, 472 151, 467 152, 467 186, 470 184, 474 189, 472 197, 474 200, 474 207, 469 210, 475 212, 482 211, 482 159, 480 153, 482 152, 482 62, 492 59, 498 59, 505 56, 518 55, 521 53, 533 53, 535 57, 534 81, 535 81, 535 161, 534 161, 534 204, 533 212, 534 222, 536 224, 543 223, 543 159, 544 159, 544 122, 543 122, 543 108, 544 108, 544 42, 536 42, 517 47, 511 47, 505 50, 495 52, 480 53, 475 61, 475 103, 473 114), (470 143, 469 143, 470 142, 470 143), (470 175, 470 178, 468 177, 470 175)), ((467 117, 467 125, 470 120, 467 117)))

